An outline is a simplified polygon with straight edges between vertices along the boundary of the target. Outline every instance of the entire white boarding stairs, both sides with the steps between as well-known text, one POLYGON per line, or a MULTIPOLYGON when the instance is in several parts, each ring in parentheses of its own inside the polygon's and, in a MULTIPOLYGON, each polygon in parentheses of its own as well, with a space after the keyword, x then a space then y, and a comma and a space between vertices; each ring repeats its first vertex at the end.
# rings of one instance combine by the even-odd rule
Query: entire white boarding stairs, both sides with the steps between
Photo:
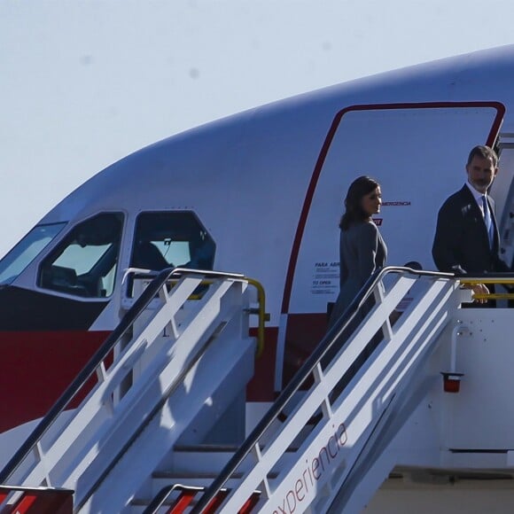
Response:
POLYGON ((250 436, 223 444, 218 420, 232 424, 253 373, 248 283, 199 272, 170 292, 163 273, 93 357, 98 383, 80 408, 58 403, 0 483, 74 489, 74 512, 362 510, 432 384, 423 368, 440 331, 471 292, 449 274, 381 270, 250 436), (208 291, 191 300, 206 278, 208 291), (113 340, 121 350, 109 366, 113 340))

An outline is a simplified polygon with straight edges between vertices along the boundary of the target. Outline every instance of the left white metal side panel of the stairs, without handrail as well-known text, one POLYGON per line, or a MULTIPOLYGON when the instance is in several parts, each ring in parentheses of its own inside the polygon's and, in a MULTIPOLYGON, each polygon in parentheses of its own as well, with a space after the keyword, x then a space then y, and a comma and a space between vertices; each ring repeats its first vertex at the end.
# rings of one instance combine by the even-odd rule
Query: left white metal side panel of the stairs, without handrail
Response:
POLYGON ((214 280, 201 299, 188 300, 202 278, 161 289, 159 306, 12 484, 70 487, 81 512, 120 511, 176 440, 205 436, 252 377, 255 343, 245 281, 214 280), (134 450, 144 457, 131 461, 134 450))

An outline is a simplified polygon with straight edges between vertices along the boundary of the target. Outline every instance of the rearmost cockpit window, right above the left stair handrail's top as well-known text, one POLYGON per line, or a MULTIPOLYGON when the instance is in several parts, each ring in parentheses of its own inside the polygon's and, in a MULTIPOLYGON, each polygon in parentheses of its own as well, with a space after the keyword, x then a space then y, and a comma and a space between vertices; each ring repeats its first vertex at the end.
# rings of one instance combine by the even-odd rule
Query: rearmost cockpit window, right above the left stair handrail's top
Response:
POLYGON ((191 211, 143 213, 137 216, 130 266, 213 269, 215 244, 191 211))

